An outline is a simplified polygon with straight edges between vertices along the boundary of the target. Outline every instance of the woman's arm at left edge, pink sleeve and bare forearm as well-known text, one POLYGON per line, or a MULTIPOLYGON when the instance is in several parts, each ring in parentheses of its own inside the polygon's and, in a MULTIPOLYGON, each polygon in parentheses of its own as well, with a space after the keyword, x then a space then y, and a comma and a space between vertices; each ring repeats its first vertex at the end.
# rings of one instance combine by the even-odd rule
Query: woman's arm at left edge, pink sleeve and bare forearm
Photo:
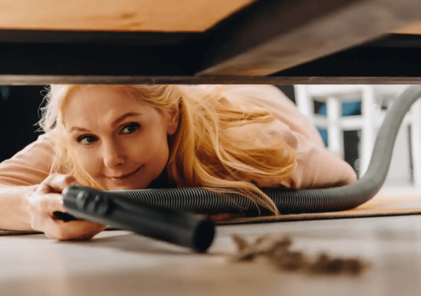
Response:
POLYGON ((0 229, 30 230, 27 198, 50 173, 53 143, 48 134, 0 163, 0 229))

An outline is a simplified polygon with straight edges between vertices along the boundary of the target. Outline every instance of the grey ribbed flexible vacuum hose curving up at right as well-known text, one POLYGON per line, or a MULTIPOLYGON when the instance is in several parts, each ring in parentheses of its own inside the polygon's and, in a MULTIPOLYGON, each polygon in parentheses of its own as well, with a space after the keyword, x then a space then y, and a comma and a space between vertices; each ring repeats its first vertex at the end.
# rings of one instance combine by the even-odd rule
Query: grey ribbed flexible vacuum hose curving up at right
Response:
MULTIPOLYGON (((419 97, 421 97, 421 86, 413 85, 407 88, 392 105, 378 130, 368 169, 356 183, 328 189, 261 188, 262 191, 274 201, 282 214, 344 211, 367 202, 376 195, 386 180, 400 125, 410 107, 419 97)), ((140 203, 150 203, 194 213, 248 212, 253 214, 265 211, 244 195, 222 194, 204 188, 140 189, 112 192, 140 203)))

